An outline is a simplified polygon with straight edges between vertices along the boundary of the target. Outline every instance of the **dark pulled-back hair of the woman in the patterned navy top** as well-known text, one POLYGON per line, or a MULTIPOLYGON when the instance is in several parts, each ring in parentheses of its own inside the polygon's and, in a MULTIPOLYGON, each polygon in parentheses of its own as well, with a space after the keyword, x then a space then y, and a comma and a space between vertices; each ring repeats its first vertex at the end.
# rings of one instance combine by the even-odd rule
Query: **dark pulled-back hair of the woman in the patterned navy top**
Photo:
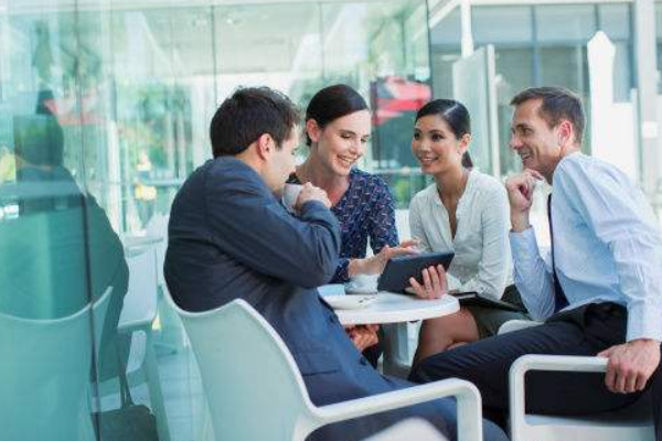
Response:
MULTIPOLYGON (((323 129, 333 120, 361 110, 367 110, 365 99, 346 84, 334 84, 313 95, 306 108, 306 121, 314 119, 318 127, 323 129)), ((308 133, 306 144, 312 146, 308 133)))

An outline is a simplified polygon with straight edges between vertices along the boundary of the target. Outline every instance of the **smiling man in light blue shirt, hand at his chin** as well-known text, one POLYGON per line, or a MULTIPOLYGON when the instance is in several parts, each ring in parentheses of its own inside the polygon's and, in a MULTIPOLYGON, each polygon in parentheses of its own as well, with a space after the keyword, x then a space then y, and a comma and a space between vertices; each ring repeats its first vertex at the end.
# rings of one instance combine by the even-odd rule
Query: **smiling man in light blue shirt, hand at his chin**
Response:
MULTIPOLYGON (((578 415, 628 405, 662 383, 658 222, 641 190, 621 171, 580 152, 584 111, 576 95, 532 88, 511 104, 511 147, 524 168, 506 182, 515 283, 531 315, 544 324, 433 356, 412 379, 469 379, 482 392, 485 415, 499 419, 508 407, 508 370, 521 355, 597 355, 609 359, 606 375, 532 373, 527 409, 578 415), (541 257, 528 222, 542 179, 554 195, 548 260, 541 257)), ((661 391, 653 394, 662 399, 661 391)))

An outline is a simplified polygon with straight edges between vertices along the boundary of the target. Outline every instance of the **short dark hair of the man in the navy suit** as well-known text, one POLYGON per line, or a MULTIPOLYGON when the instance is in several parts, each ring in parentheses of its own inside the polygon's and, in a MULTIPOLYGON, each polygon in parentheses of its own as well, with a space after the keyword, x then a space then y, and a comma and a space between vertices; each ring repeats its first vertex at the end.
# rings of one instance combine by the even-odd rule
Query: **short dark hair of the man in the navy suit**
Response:
POLYGON ((210 138, 214 158, 238 154, 265 133, 280 149, 299 119, 297 106, 284 94, 268 87, 239 88, 212 118, 210 138))

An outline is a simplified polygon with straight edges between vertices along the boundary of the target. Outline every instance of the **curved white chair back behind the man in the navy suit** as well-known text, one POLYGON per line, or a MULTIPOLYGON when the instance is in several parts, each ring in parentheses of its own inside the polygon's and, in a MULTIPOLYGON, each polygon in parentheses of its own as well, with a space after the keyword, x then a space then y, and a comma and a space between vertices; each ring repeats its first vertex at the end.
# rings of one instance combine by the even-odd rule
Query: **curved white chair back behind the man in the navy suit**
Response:
POLYGON ((179 312, 195 353, 217 440, 292 440, 310 431, 312 404, 295 359, 244 300, 179 312))

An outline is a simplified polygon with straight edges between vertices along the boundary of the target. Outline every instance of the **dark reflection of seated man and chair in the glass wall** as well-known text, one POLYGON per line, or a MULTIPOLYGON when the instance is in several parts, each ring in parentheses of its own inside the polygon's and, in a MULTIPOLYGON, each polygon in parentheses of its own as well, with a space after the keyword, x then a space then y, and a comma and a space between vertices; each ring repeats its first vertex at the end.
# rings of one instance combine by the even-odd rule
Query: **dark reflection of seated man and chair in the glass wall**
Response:
POLYGON ((117 375, 128 269, 104 209, 64 166, 65 133, 54 103, 50 89, 40 90, 34 114, 12 120, 15 182, 0 186, 0 323, 7 327, 0 346, 15 357, 2 364, 0 394, 24 400, 11 402, 21 413, 11 424, 18 433, 64 441, 92 428, 90 378, 117 375), (26 385, 30 392, 21 392, 26 385), (42 413, 39 423, 25 409, 42 413))

